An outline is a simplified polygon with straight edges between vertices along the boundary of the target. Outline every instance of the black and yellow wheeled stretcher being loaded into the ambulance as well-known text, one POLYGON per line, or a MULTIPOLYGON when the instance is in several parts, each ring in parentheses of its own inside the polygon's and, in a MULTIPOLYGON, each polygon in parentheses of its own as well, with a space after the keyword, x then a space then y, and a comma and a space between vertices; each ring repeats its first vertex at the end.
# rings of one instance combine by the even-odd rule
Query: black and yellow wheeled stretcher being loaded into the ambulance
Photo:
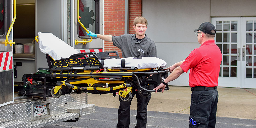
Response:
MULTIPOLYGON (((40 39, 43 40, 39 36, 39 45, 40 39)), ((23 75, 24 87, 19 89, 20 95, 59 98, 74 90, 77 94, 113 93, 123 101, 130 101, 134 89, 140 96, 147 97, 168 76, 168 70, 162 68, 166 63, 156 57, 119 58, 118 53, 113 51, 77 53, 55 60, 50 54, 46 53, 49 69, 42 68, 37 73, 23 75)), ((169 87, 166 86, 165 90, 169 87)))

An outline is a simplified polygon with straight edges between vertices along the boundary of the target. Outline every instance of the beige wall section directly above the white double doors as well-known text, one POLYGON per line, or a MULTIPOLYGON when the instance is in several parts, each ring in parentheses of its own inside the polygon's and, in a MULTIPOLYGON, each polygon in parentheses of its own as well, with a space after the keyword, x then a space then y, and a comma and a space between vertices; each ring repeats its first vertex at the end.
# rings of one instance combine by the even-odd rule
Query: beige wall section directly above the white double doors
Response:
POLYGON ((256 16, 255 0, 211 0, 211 17, 256 16))

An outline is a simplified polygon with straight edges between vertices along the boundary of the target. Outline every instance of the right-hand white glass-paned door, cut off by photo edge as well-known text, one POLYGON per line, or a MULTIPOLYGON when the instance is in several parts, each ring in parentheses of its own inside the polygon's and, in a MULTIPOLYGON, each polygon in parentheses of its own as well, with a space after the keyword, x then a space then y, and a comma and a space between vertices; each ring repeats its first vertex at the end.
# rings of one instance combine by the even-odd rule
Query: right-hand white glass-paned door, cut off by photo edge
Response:
POLYGON ((242 88, 256 88, 256 17, 242 17, 242 88))

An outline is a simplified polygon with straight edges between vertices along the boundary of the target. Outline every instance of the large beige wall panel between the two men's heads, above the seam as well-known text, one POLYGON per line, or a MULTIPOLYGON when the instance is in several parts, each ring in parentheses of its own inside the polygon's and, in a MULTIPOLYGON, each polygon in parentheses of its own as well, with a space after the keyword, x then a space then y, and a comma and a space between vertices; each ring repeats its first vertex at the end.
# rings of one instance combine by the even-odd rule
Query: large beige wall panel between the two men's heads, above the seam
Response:
POLYGON ((197 42, 194 29, 210 21, 210 0, 143 0, 146 34, 156 42, 197 42))

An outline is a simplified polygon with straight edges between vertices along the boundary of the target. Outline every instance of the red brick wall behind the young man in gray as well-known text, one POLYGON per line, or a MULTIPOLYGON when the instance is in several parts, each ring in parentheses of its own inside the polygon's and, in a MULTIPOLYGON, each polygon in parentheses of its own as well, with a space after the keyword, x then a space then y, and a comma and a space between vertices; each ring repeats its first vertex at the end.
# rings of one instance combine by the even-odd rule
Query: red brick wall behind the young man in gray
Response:
MULTIPOLYGON (((104 0, 104 34, 105 35, 123 35, 125 0, 104 0)), ((141 0, 129 1, 129 33, 135 33, 133 29, 133 20, 141 16, 141 0)), ((118 51, 122 57, 121 50, 113 46, 112 42, 104 42, 104 51, 118 51)))

